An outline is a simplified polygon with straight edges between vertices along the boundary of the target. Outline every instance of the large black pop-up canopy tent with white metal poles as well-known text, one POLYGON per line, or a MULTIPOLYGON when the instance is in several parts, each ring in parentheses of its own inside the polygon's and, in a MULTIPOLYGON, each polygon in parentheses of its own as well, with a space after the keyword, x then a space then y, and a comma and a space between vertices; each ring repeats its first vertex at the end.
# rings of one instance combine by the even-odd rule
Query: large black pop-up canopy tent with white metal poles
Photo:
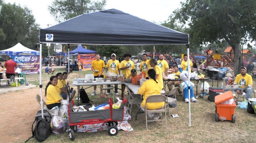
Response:
MULTIPOLYGON (((70 44, 187 45, 189 58, 188 34, 146 21, 117 9, 83 14, 52 27, 40 29, 39 41, 40 43, 68 44, 68 47, 70 44)), ((188 76, 190 77, 190 74, 188 76)), ((41 85, 41 73, 39 84, 41 85)))

